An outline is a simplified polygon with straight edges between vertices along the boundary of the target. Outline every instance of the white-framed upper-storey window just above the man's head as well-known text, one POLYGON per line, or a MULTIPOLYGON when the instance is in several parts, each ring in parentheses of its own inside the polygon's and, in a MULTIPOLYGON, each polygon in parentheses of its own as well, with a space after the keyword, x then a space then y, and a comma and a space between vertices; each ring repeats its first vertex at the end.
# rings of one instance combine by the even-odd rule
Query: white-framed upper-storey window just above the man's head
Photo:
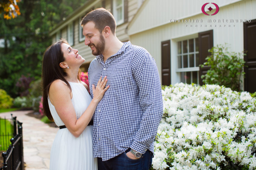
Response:
POLYGON ((113 16, 116 20, 116 25, 124 22, 124 0, 113 0, 113 16))

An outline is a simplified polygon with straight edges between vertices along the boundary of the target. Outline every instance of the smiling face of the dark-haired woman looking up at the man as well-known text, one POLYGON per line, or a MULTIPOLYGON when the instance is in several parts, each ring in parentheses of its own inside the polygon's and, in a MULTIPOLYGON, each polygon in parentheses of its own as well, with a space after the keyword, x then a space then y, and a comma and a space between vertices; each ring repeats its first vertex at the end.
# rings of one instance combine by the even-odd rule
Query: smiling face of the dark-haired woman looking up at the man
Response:
POLYGON ((73 49, 66 43, 61 44, 61 50, 65 58, 65 63, 72 68, 73 66, 81 66, 84 63, 84 58, 78 54, 77 49, 73 49))

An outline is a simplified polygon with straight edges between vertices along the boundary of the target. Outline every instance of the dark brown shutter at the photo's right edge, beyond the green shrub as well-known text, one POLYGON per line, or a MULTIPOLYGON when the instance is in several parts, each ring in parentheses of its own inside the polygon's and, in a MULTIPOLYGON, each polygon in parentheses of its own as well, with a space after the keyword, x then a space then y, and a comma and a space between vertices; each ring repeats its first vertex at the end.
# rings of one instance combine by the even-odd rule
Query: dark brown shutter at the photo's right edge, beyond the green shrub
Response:
POLYGON ((244 90, 250 93, 256 91, 256 19, 251 22, 244 22, 244 90))

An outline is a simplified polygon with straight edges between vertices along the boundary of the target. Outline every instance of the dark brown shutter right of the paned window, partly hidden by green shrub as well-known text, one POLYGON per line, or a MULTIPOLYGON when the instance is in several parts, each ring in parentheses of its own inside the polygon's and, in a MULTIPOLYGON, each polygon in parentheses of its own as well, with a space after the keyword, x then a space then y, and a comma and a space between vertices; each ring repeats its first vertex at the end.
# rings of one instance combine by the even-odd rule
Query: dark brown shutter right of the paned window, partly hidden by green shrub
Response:
MULTIPOLYGON (((211 53, 208 52, 208 49, 213 47, 213 30, 199 32, 198 33, 198 44, 199 44, 199 64, 206 62, 205 58, 211 53)), ((201 76, 206 74, 210 69, 210 66, 204 66, 201 68, 199 66, 199 84, 203 85, 201 76)))

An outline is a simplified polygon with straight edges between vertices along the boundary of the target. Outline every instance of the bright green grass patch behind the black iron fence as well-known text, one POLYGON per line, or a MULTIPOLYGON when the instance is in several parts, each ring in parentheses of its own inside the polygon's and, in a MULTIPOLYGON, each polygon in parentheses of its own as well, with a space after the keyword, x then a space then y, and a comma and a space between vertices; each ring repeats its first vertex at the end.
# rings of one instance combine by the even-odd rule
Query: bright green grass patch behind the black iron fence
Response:
POLYGON ((13 126, 9 120, 0 118, 0 151, 6 151, 11 144, 13 126))

